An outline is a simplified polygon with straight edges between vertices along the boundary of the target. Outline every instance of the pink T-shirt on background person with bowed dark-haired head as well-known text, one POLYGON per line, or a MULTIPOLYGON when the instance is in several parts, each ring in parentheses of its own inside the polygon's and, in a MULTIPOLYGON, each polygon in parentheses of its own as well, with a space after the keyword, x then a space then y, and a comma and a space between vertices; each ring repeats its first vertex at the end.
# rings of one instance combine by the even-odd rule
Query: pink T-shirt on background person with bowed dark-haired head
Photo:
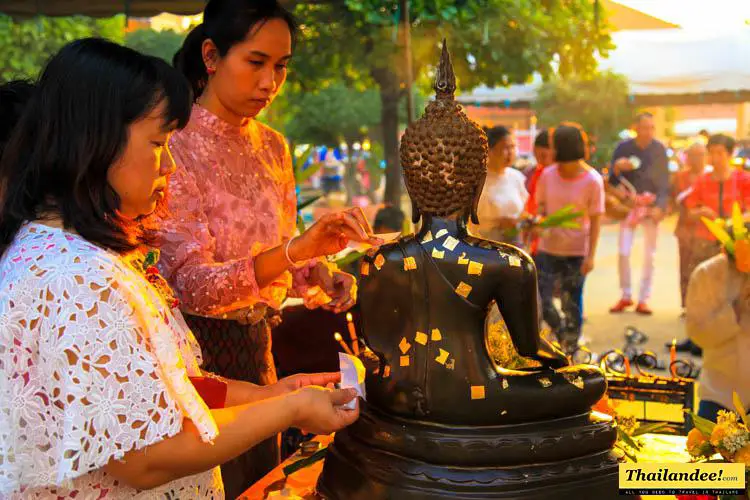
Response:
POLYGON ((573 179, 563 179, 557 165, 544 170, 537 185, 541 215, 553 214, 567 205, 583 212, 579 229, 553 228, 542 233, 539 251, 560 257, 585 257, 589 249, 590 219, 604 213, 604 182, 593 168, 573 179))

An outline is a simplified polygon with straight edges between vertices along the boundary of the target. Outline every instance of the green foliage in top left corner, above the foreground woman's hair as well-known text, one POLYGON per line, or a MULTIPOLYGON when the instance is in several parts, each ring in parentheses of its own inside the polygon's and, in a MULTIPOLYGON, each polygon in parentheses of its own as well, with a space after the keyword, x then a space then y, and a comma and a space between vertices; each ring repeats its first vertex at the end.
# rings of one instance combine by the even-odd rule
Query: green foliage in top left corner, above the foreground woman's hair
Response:
POLYGON ((37 17, 15 22, 0 15, 0 81, 35 79, 50 57, 79 38, 96 36, 122 43, 124 26, 123 16, 37 17))

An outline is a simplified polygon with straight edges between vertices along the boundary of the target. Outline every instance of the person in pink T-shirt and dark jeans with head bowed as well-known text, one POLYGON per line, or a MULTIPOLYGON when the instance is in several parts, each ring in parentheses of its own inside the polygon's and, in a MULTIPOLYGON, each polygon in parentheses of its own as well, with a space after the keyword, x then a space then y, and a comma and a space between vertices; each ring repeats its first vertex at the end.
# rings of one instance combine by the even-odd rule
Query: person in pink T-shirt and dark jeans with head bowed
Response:
POLYGON ((578 347, 583 325, 583 284, 594 268, 604 213, 604 182, 586 163, 586 134, 578 125, 563 123, 555 129, 552 142, 557 163, 539 178, 539 213, 548 215, 573 206, 584 215, 579 229, 542 232, 535 261, 544 321, 563 350, 572 353, 578 347), (564 319, 553 303, 556 284, 564 319))

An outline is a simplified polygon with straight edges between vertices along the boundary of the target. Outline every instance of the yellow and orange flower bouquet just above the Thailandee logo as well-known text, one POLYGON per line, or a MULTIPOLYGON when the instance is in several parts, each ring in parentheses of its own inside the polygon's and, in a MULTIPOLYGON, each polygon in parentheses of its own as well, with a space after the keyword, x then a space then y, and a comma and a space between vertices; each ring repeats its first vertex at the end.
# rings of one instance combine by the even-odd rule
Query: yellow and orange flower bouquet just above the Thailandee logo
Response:
MULTIPOLYGON (((731 462, 750 468, 750 421, 737 393, 733 393, 735 411, 719 411, 716 423, 688 412, 694 427, 688 433, 687 451, 695 462, 731 462), (721 457, 721 458, 719 458, 721 457)), ((684 496, 695 500, 696 496, 684 496)), ((719 496, 720 499, 747 498, 747 495, 719 496)))

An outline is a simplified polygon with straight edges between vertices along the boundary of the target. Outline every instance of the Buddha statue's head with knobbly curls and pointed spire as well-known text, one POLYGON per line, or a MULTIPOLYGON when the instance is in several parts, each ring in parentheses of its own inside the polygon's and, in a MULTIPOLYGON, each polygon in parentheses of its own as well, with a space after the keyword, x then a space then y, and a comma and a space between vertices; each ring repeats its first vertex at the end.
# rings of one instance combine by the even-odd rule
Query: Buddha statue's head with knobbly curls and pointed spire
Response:
POLYGON ((478 224, 477 205, 487 176, 487 136, 456 102, 456 76, 445 40, 433 88, 435 100, 401 141, 413 220, 458 214, 478 224))

